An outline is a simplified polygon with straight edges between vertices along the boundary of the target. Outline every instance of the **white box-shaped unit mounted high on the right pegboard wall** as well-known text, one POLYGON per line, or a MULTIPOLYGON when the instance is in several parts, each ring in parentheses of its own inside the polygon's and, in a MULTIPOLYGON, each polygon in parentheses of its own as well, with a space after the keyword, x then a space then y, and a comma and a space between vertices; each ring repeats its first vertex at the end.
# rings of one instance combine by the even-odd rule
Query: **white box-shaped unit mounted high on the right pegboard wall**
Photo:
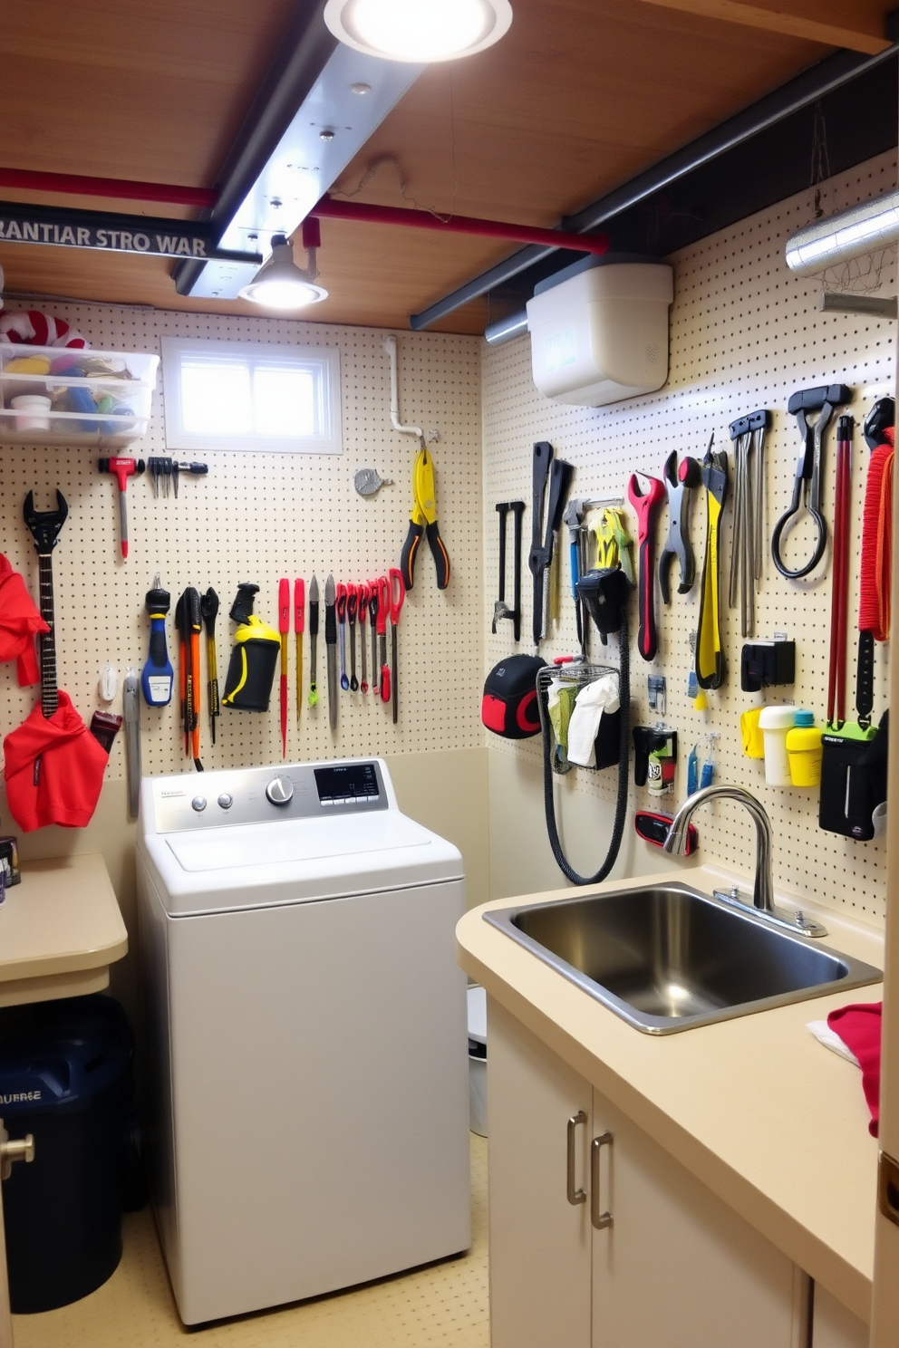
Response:
POLYGON ((534 383, 545 398, 602 407, 669 377, 667 263, 586 257, 540 282, 527 303, 534 383))

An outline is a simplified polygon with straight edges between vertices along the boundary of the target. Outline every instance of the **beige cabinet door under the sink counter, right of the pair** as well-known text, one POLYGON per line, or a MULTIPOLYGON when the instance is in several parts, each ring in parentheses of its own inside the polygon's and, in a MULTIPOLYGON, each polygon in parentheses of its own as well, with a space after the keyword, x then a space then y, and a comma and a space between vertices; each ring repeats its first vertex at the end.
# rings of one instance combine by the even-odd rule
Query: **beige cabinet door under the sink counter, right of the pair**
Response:
POLYGON ((805 1343, 786 1255, 596 1092, 593 1132, 593 1348, 805 1343))

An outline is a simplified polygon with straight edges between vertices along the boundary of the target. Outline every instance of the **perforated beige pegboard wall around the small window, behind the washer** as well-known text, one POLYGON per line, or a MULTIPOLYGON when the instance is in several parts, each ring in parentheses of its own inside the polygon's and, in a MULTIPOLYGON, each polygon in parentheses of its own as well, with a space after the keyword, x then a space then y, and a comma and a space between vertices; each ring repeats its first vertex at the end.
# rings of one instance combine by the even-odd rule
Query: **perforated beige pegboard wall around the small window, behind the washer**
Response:
MULTIPOLYGON (((13 307, 7 299, 8 307, 13 307)), ((318 638, 319 704, 306 705, 309 690, 309 617, 303 640, 303 710, 297 723, 291 620, 290 723, 287 756, 400 754, 470 748, 481 744, 478 721, 483 665, 480 585, 480 356, 472 337, 399 336, 400 410, 407 423, 438 431, 431 446, 437 470, 441 532, 452 561, 449 589, 438 592, 430 551, 419 555, 415 588, 399 624, 399 724, 390 706, 369 692, 340 694, 340 718, 332 733, 325 673, 325 580, 360 582, 399 565, 412 503, 411 470, 416 441, 390 425, 390 365, 385 333, 329 328, 270 318, 217 318, 88 303, 46 303, 102 350, 156 352, 160 338, 214 337, 222 342, 328 345, 340 349, 344 452, 340 456, 267 453, 183 453, 209 464, 208 477, 181 476, 178 499, 155 499, 150 474, 128 485, 131 555, 119 551, 119 504, 113 477, 97 469, 100 452, 88 449, 0 448, 1 549, 38 597, 38 562, 22 506, 35 492, 38 510, 55 508, 55 489, 69 504, 69 519, 53 554, 59 686, 85 721, 105 705, 97 692, 106 661, 120 675, 147 659, 150 624, 146 592, 155 572, 171 592, 168 654, 177 667, 174 605, 187 585, 218 593, 217 663, 224 690, 233 624, 228 611, 240 581, 261 586, 256 612, 278 627, 278 581, 317 574, 321 588, 318 638), (359 468, 376 468, 384 485, 363 497, 353 488, 359 468)), ((162 386, 162 376, 160 376, 162 386)), ((164 387, 154 395, 147 437, 127 453, 166 454, 164 387)), ((364 627, 369 655, 369 624, 364 627)), ((201 640, 204 706, 201 758, 208 768, 280 760, 278 675, 268 714, 222 708, 212 745, 206 708, 205 636, 201 640)), ((388 638, 390 659, 390 638, 388 638)), ((361 661, 357 656, 359 677, 361 661)), ((348 652, 349 667, 349 652, 348 652)), ((0 666, 0 729, 19 725, 39 690, 19 689, 15 665, 0 666)), ((178 731, 178 694, 168 708, 142 700, 144 775, 190 770, 178 731)), ((112 705, 121 712, 121 690, 112 705)), ((125 775, 124 736, 113 745, 106 778, 125 775)))

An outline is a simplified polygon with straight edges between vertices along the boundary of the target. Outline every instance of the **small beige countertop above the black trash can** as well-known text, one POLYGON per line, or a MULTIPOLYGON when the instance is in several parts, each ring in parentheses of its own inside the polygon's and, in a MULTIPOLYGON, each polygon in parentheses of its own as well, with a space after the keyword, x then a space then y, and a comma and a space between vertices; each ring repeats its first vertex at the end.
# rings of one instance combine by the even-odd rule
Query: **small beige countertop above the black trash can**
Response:
POLYGON ((100 992, 127 950, 98 852, 28 861, 0 907, 0 1007, 100 992))

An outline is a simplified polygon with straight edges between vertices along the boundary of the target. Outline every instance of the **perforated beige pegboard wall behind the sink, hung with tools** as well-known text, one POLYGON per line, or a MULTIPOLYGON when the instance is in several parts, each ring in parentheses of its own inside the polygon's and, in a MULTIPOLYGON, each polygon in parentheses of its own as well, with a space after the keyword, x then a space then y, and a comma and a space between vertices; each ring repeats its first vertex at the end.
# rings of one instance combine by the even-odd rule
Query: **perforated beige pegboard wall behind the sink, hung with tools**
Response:
MULTIPOLYGON (((887 154, 826 185, 825 208, 845 209, 871 197, 895 190, 896 159, 887 154)), ((726 448, 733 465, 728 425, 759 407, 774 412, 766 441, 767 507, 764 518, 766 559, 757 590, 756 628, 759 639, 786 631, 797 642, 795 687, 768 689, 764 701, 795 701, 810 708, 822 723, 826 710, 828 658, 830 638, 830 547, 826 562, 806 581, 783 580, 770 555, 771 531, 787 510, 795 477, 801 442, 795 422, 787 415, 790 394, 798 388, 845 383, 855 388, 849 411, 856 418, 852 458, 852 572, 849 582, 848 714, 855 717, 855 670, 859 596, 859 559, 864 474, 868 449, 861 421, 873 400, 895 388, 895 324, 868 317, 825 315, 818 310, 819 286, 790 275, 783 260, 787 237, 813 218, 813 193, 797 195, 771 210, 722 231, 675 253, 671 309, 671 364, 667 386, 655 395, 604 408, 563 407, 536 392, 531 380, 531 353, 527 337, 484 352, 484 541, 485 541, 485 632, 496 597, 499 524, 495 503, 522 499, 524 515, 524 576, 522 643, 532 650, 532 585, 527 572, 531 538, 531 452, 538 439, 549 439, 558 457, 576 465, 573 496, 625 497, 631 472, 662 477, 664 460, 678 456, 702 458, 714 433, 716 448, 726 448)), ((892 276, 887 278, 892 293, 892 276)), ((824 512, 833 524, 836 419, 824 453, 824 512)), ((731 473, 731 487, 733 474, 731 473)), ((694 493, 690 535, 697 558, 697 581, 686 594, 677 593, 677 563, 673 576, 673 603, 664 608, 658 593, 659 652, 646 663, 636 651, 636 604, 631 605, 632 723, 654 725, 648 709, 647 675, 667 678, 664 721, 678 731, 678 771, 675 797, 655 797, 633 787, 631 768, 629 822, 639 809, 664 809, 686 795, 686 758, 700 736, 720 732, 714 758, 716 782, 733 782, 755 793, 768 810, 776 841, 775 884, 853 911, 863 919, 881 923, 886 911, 886 838, 855 842, 818 828, 817 790, 772 787, 764 782, 764 764, 743 755, 740 713, 762 701, 740 689, 740 615, 726 608, 726 580, 732 543, 732 497, 722 524, 722 636, 728 677, 718 692, 708 694, 706 712, 697 712, 687 697, 691 665, 689 638, 695 630, 700 608, 700 577, 704 555, 705 492, 694 493)), ((627 503, 625 503, 627 504, 627 503)), ((627 506, 636 538, 636 520, 627 506)), ((655 557, 664 543, 667 510, 659 512, 655 557)), ((570 600, 567 531, 554 576, 554 611, 558 615, 540 647, 545 659, 576 652, 574 608, 570 600)), ((807 539, 805 539, 807 542, 807 539)), ((511 526, 509 526, 511 545, 511 526)), ((795 531, 795 558, 802 554, 802 530, 795 531)), ((793 555, 793 554, 790 554, 793 555)), ((508 585, 511 586, 511 546, 508 585)), ((508 594, 508 590, 507 590, 508 594)), ((500 623, 496 636, 487 638, 485 663, 492 667, 512 650, 511 623, 500 623)), ((615 642, 609 644, 615 663, 615 642)), ((590 655, 602 659, 598 636, 590 638, 590 655)), ((877 646, 875 720, 887 706, 888 647, 877 646)), ((515 743, 488 735, 496 752, 540 759, 540 740, 515 743)), ((557 795, 586 791, 612 806, 615 771, 590 772, 576 768, 557 787, 557 795)), ((701 845, 706 856, 751 871, 755 856, 752 825, 739 805, 718 802, 697 816, 701 845)), ((598 832, 598 830, 597 830, 598 832)), ((596 840, 597 864, 605 838, 596 840)), ((559 875, 559 883, 562 876, 559 875)))

